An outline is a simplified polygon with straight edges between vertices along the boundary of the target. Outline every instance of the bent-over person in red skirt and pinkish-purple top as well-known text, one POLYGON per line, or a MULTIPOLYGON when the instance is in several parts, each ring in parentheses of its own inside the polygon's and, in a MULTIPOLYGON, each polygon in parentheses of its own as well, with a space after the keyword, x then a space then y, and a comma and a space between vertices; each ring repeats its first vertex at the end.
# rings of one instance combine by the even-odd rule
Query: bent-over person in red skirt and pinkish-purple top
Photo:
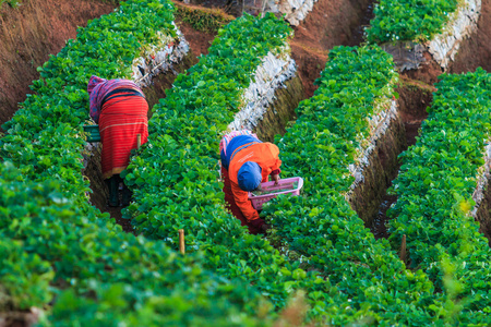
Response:
MULTIPOLYGON (((99 124, 103 143, 103 178, 109 186, 109 206, 119 206, 119 173, 130 161, 130 153, 148 138, 148 104, 142 89, 132 81, 92 76, 87 92, 91 117, 99 124)), ((122 205, 130 203, 131 192, 123 183, 122 205)))

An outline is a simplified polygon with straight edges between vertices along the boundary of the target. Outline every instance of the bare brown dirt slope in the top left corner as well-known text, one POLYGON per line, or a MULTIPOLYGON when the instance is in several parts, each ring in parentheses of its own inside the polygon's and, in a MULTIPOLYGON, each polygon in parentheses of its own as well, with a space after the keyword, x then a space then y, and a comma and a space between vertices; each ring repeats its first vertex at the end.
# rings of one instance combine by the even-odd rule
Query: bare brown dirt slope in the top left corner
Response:
POLYGON ((36 68, 75 38, 76 27, 115 8, 104 1, 26 0, 16 8, 0 8, 0 125, 17 110, 39 78, 36 68))

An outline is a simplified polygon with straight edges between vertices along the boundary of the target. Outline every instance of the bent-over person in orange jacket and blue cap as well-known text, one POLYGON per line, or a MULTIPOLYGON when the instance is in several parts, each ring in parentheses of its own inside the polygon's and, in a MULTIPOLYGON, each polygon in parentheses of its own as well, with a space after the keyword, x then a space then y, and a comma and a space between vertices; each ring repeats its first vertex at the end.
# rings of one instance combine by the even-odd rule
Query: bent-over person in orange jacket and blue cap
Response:
POLYGON ((235 131, 220 142, 221 177, 225 201, 233 216, 240 219, 253 234, 265 232, 270 226, 260 218, 249 199, 249 193, 260 190, 268 177, 279 181, 279 149, 268 142, 261 142, 251 131, 235 131))

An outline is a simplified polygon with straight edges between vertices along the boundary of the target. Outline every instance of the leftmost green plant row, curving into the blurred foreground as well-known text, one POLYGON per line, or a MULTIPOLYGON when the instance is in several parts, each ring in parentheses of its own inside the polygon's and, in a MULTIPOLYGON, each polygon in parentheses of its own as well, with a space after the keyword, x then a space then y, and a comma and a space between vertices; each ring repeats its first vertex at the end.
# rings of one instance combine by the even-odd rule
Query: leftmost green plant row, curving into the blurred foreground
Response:
POLYGON ((131 76, 157 32, 176 35, 170 2, 133 0, 80 28, 34 81, 0 140, 0 307, 49 310, 46 325, 268 325, 250 286, 204 269, 87 203, 82 175, 91 75, 131 76))

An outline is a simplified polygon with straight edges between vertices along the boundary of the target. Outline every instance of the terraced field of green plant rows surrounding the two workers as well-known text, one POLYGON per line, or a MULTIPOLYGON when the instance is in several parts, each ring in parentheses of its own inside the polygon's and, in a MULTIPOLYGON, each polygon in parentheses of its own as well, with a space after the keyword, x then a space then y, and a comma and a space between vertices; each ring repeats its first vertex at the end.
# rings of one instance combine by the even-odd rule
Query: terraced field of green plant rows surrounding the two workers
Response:
POLYGON ((0 138, 1 324, 491 325, 489 3, 284 4, 129 0, 38 69, 0 138), (122 211, 82 132, 92 74, 153 99, 122 211), (306 183, 265 237, 225 209, 218 142, 240 126, 306 183))

